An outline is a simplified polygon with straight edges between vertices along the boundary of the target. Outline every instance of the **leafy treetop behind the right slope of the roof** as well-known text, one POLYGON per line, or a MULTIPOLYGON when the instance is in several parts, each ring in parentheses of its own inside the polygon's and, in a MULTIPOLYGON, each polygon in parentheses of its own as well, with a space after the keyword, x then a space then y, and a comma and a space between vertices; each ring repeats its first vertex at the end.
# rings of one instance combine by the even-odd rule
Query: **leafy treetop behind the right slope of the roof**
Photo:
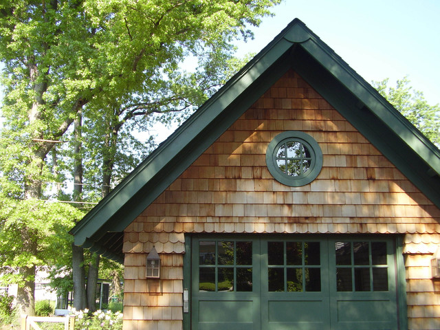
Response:
POLYGON ((428 139, 440 147, 440 107, 431 106, 421 91, 412 89, 408 77, 397 80, 396 87, 388 87, 388 79, 373 83, 379 93, 428 139))

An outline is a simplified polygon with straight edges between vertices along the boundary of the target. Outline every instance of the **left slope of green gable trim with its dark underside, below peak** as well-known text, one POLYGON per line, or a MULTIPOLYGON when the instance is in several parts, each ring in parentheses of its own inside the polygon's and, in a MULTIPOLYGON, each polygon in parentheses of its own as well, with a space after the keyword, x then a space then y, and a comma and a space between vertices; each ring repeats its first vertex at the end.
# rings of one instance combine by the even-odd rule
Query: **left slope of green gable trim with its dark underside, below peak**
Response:
POLYGON ((245 72, 236 75, 238 82, 228 83, 203 104, 71 230, 75 244, 83 245, 91 238, 90 233, 94 240, 99 240, 109 228, 112 232, 124 230, 287 72, 290 68, 288 58, 278 53, 286 52, 291 46, 281 40, 277 47, 266 52, 264 61, 245 67, 245 72))

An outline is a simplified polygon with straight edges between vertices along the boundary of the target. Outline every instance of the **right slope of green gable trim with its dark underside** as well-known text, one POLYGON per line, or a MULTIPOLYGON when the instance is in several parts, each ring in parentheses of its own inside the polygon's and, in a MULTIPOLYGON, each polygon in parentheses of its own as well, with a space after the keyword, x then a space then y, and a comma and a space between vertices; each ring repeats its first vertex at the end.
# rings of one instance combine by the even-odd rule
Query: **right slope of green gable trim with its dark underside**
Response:
POLYGON ((295 58, 296 72, 440 208, 439 149, 327 45, 309 39, 295 58))

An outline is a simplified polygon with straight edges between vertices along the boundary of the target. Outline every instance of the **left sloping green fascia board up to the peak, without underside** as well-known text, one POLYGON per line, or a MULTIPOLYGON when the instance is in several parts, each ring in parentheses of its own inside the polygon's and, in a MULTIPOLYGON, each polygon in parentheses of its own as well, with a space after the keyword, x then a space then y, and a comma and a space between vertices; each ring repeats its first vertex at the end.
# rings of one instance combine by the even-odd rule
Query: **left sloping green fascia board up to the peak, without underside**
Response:
MULTIPOLYGON (((122 206, 131 199, 148 181, 151 181, 168 162, 193 141, 203 129, 219 115, 222 115, 243 91, 250 87, 267 69, 273 65, 290 47, 292 40, 307 37, 305 25, 298 19, 292 21, 272 43, 267 45, 255 58, 232 77, 210 100, 163 142, 144 162, 137 166, 122 182, 104 197, 98 205, 70 231, 75 236, 75 244, 83 245, 88 237, 98 232, 122 206), (283 39, 287 36, 287 39, 283 39)), ((138 214, 137 214, 138 215, 138 214)), ((118 227, 126 227, 133 219, 127 218, 118 227), (128 222, 128 223, 127 223, 128 222)))

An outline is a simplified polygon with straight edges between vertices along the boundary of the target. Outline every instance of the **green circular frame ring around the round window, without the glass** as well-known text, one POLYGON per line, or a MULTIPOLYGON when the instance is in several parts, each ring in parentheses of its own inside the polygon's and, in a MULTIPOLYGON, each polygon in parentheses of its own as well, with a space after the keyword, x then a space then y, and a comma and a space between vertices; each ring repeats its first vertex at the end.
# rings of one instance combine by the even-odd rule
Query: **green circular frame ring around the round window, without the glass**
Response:
POLYGON ((286 131, 274 137, 267 146, 266 164, 270 174, 276 181, 291 187, 300 187, 309 184, 318 177, 322 168, 322 151, 316 140, 309 134, 300 131, 286 131), (311 164, 309 169, 298 176, 287 175, 276 164, 276 152, 278 148, 286 142, 300 142, 307 147, 311 156, 311 164))

